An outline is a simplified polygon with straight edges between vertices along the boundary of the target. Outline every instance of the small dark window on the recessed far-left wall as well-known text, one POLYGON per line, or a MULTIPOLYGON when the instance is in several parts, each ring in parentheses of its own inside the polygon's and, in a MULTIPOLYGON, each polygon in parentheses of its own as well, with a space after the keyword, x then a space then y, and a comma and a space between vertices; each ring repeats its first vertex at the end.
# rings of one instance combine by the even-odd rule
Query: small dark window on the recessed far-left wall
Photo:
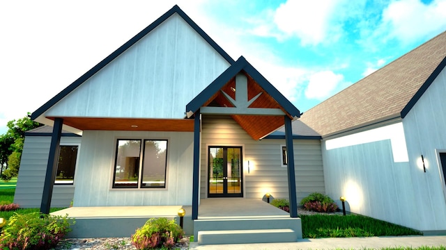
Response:
POLYGON ((75 181, 78 146, 60 146, 55 184, 71 184, 75 181))

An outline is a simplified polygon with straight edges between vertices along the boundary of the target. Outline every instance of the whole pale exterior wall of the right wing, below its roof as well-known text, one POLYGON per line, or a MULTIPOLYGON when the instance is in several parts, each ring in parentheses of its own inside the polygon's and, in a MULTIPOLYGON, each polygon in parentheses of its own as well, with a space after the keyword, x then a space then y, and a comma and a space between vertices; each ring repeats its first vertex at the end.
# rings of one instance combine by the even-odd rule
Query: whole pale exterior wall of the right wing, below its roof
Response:
POLYGON ((402 122, 377 128, 379 133, 356 133, 351 142, 357 143, 333 147, 333 140, 323 140, 327 194, 344 195, 353 213, 420 231, 445 231, 446 191, 436 154, 446 151, 445 96, 443 70, 402 122), (375 140, 367 141, 370 133, 375 140), (406 156, 398 156, 403 151, 406 156))

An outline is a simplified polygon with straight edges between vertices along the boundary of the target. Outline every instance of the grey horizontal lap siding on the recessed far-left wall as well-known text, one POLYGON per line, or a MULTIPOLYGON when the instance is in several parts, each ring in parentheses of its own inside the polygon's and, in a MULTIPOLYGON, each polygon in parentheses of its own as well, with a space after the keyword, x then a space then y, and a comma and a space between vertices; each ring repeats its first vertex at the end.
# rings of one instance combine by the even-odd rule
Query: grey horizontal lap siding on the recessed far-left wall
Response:
MULTIPOLYGON (((51 136, 25 137, 14 195, 14 203, 19 204, 21 208, 40 208, 50 143, 51 136)), ((80 137, 61 138, 61 145, 76 145, 79 146, 78 150, 80 150, 80 144, 80 137)), ((75 178, 77 178, 76 174, 77 166, 75 168, 75 178)), ((74 193, 74 185, 54 185, 51 206, 53 208, 67 208, 72 202, 74 193)))

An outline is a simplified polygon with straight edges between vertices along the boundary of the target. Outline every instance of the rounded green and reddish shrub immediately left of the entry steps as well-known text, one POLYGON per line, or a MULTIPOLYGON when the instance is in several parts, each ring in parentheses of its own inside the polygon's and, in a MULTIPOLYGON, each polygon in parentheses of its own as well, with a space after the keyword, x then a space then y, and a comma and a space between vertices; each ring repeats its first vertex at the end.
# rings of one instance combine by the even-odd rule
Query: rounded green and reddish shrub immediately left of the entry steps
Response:
POLYGON ((183 228, 166 218, 151 218, 132 235, 132 244, 137 249, 172 248, 183 238, 183 228))

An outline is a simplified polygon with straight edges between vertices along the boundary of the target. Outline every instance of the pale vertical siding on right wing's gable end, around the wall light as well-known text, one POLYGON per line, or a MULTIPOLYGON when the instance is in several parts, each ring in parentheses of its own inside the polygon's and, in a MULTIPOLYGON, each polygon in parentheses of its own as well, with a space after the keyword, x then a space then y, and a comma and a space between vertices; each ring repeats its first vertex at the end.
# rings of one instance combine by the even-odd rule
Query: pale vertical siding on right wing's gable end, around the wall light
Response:
POLYGON ((446 231, 446 183, 438 152, 446 152, 446 69, 403 119, 410 160, 410 183, 417 224, 423 231, 446 231), (424 156, 426 173, 422 169, 424 156))

